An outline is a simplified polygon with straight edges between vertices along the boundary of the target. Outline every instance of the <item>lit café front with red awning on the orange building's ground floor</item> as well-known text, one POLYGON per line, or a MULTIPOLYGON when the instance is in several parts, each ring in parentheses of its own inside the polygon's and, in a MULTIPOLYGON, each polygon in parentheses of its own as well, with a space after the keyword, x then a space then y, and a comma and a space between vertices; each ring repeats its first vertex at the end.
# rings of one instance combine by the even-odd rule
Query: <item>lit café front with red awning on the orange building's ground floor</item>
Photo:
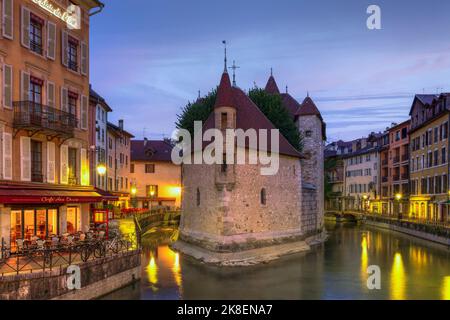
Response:
POLYGON ((91 206, 102 197, 89 188, 77 191, 0 188, 0 240, 48 239, 90 228, 91 206))

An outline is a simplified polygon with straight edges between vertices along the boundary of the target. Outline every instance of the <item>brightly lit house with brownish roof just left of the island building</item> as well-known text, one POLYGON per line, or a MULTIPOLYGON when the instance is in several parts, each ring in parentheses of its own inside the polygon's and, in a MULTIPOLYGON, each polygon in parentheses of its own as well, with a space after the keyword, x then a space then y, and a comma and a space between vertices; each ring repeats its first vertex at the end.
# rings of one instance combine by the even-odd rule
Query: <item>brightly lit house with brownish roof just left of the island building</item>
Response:
POLYGON ((132 206, 180 208, 181 166, 172 162, 172 149, 169 140, 131 141, 132 206))

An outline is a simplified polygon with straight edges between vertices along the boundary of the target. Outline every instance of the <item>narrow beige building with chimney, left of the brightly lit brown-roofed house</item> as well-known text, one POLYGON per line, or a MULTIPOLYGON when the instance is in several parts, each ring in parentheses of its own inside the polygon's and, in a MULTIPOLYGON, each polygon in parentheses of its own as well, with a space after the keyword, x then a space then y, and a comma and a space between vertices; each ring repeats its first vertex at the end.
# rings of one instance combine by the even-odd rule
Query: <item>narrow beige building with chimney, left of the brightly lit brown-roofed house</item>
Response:
POLYGON ((127 208, 131 191, 131 139, 134 136, 124 130, 124 121, 118 125, 107 124, 107 181, 108 191, 118 197, 114 205, 127 208))

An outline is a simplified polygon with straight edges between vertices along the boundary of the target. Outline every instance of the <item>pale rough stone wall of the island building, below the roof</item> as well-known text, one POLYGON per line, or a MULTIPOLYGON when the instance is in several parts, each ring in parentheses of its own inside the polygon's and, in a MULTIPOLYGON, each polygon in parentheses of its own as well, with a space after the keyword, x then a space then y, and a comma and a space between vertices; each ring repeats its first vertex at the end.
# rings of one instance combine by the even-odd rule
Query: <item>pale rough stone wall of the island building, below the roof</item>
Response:
POLYGON ((280 156, 279 172, 262 176, 261 165, 235 165, 234 183, 218 185, 216 166, 184 165, 181 239, 216 251, 254 248, 302 237, 301 168, 280 156), (197 206, 197 188, 200 205, 197 206), (261 190, 266 189, 266 204, 261 190))

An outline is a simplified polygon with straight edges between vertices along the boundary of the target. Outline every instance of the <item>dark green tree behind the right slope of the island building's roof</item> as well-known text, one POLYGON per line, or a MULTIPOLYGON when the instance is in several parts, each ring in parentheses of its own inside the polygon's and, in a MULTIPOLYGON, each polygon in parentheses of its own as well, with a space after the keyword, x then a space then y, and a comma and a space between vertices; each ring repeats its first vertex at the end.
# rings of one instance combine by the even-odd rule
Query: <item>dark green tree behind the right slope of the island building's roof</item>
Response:
POLYGON ((289 111, 283 106, 281 96, 269 94, 263 89, 254 88, 249 91, 249 97, 289 143, 301 151, 302 139, 289 111))

